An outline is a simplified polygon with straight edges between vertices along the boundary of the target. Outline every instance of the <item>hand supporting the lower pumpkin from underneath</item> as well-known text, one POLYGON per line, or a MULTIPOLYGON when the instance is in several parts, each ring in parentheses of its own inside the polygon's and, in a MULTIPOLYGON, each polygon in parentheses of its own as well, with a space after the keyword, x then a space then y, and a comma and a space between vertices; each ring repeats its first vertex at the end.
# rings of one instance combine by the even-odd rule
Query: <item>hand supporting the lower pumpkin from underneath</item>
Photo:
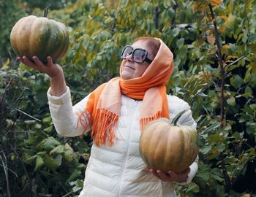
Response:
POLYGON ((168 171, 168 173, 164 173, 160 170, 154 170, 150 167, 146 168, 147 171, 150 171, 154 176, 161 179, 164 182, 185 182, 187 180, 190 169, 186 169, 181 173, 176 173, 174 171, 168 171))

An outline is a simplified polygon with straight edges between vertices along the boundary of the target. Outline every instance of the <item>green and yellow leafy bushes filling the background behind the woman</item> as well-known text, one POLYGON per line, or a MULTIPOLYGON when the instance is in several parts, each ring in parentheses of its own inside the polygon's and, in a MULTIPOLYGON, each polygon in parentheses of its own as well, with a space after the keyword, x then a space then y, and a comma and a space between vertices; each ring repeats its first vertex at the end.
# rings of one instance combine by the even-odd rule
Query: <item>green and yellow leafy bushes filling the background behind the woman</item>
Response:
POLYGON ((200 136, 199 170, 177 196, 256 196, 255 0, 0 0, 0 196, 78 196, 83 187, 90 137, 56 134, 48 77, 10 46, 18 19, 47 6, 69 29, 59 63, 73 104, 118 75, 124 45, 161 38, 175 56, 168 93, 192 106, 200 136))

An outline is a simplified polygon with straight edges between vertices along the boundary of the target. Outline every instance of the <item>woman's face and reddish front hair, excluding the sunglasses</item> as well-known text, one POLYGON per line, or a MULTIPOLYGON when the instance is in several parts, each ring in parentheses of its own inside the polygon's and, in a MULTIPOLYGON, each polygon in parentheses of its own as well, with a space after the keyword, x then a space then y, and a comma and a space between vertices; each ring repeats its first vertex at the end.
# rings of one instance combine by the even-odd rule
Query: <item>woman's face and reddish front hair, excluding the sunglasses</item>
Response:
MULTIPOLYGON (((135 43, 131 45, 133 49, 141 48, 148 52, 147 58, 150 60, 154 59, 154 56, 152 55, 151 49, 146 45, 145 40, 138 40, 135 43)), ((135 61, 132 61, 132 54, 128 55, 126 58, 123 59, 121 62, 121 66, 123 66, 123 70, 121 71, 121 78, 123 80, 130 80, 133 78, 141 77, 143 73, 146 71, 146 69, 149 66, 149 63, 143 62, 143 63, 136 63, 135 61)))

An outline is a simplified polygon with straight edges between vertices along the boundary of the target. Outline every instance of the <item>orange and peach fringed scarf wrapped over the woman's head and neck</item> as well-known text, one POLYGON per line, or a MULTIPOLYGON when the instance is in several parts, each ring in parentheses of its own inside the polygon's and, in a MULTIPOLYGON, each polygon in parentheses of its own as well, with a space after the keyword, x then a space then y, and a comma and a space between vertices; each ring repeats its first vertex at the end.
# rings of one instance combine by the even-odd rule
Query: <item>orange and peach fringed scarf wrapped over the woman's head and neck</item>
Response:
MULTIPOLYGON (((156 38, 157 39, 157 38, 156 38)), ((121 109, 121 95, 131 99, 143 100, 140 106, 140 131, 146 123, 159 117, 169 119, 166 87, 173 73, 173 53, 161 43, 158 53, 141 77, 122 80, 116 77, 99 85, 87 102, 86 109, 80 114, 80 123, 87 128, 91 126, 94 143, 113 145, 118 117, 121 109), (89 120, 89 125, 84 124, 89 120)), ((120 74, 123 70, 120 67, 120 74)))

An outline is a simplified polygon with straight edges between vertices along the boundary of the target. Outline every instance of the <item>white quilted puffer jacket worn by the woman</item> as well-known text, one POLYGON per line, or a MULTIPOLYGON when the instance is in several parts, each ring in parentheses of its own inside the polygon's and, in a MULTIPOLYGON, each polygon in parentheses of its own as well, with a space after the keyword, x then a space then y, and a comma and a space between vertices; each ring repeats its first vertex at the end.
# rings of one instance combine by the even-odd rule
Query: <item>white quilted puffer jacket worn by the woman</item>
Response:
MULTIPOLYGON (((83 127, 79 125, 76 114, 85 109, 88 98, 89 96, 86 96, 72 107, 69 88, 60 97, 50 96, 50 89, 48 90, 50 114, 58 134, 61 136, 83 134, 83 127)), ((167 96, 167 101, 170 120, 178 112, 190 108, 189 104, 176 96, 167 96)), ((146 165, 140 158, 140 104, 141 101, 129 99, 127 96, 121 97, 121 115, 116 130, 117 140, 112 147, 95 145, 91 147, 86 178, 79 197, 176 196, 172 184, 162 182, 146 171, 146 165)), ((181 116, 178 123, 196 127, 190 109, 181 116)), ((190 166, 187 182, 191 182, 196 172, 197 161, 190 166)))

